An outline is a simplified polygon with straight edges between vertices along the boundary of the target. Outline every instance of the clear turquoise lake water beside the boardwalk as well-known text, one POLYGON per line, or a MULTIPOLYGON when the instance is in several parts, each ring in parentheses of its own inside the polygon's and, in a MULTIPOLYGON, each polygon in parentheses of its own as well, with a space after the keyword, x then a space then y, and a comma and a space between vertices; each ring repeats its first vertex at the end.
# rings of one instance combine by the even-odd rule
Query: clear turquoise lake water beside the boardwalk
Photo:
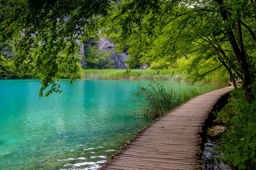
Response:
MULTIPOLYGON (((1 170, 93 170, 151 120, 127 114, 150 80, 61 81, 63 93, 38 97, 40 80, 0 80, 1 170)), ((223 85, 160 81, 204 93, 223 85)))

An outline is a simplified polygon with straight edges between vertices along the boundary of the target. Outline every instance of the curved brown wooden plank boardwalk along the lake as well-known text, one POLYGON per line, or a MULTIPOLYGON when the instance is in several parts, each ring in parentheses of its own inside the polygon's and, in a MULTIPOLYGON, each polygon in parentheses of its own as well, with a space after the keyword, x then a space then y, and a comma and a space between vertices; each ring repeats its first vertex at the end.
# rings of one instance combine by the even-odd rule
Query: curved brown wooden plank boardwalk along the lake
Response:
POLYGON ((153 121, 99 170, 200 170, 202 126, 232 87, 204 93, 153 121))

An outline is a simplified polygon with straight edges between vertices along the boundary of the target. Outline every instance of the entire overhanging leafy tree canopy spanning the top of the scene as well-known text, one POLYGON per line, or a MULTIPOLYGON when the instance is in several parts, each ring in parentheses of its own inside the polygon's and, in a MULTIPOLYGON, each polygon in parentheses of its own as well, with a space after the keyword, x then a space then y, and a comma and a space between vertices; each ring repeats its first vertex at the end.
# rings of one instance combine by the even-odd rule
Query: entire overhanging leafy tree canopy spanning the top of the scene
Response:
POLYGON ((66 72, 79 78, 78 42, 107 36, 134 61, 186 68, 195 80, 224 67, 248 100, 255 75, 255 0, 4 0, 0 40, 18 40, 17 65, 34 62, 43 90, 58 92, 66 72), (65 52, 66 55, 61 55, 65 52), (65 65, 65 69, 63 69, 65 65))

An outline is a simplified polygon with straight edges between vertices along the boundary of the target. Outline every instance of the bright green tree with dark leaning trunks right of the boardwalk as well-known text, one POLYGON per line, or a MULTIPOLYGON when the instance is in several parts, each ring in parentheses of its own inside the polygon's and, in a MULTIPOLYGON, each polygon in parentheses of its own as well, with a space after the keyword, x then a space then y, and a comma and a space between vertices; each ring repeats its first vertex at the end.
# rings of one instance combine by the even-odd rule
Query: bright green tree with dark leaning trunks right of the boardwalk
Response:
POLYGON ((120 47, 125 40, 130 45, 128 52, 143 56, 141 61, 164 58, 172 63, 186 54, 217 60, 211 70, 222 65, 232 77, 240 74, 245 96, 251 100, 248 86, 255 73, 255 43, 251 43, 255 42, 255 5, 254 0, 124 1, 121 7, 116 5, 108 31, 119 30, 110 36, 112 40, 120 47), (245 35, 250 36, 245 39, 245 35))

